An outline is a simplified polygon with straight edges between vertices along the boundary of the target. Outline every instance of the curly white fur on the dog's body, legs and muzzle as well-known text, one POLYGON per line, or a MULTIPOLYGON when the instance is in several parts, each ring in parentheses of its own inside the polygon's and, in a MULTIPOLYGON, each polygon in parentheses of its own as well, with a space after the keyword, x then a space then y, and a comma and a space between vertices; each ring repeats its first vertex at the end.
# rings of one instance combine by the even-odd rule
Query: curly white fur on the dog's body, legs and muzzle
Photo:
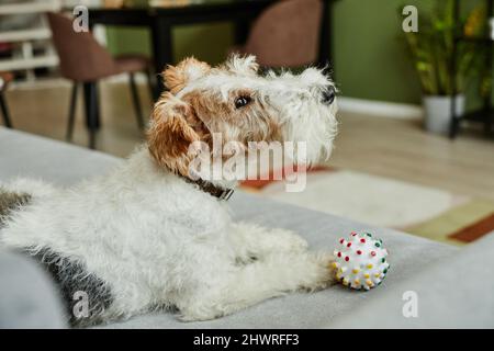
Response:
MULTIPOLYGON (((242 70, 242 61, 233 65, 242 70)), ((318 102, 317 89, 328 84, 319 71, 252 81, 237 75, 213 76, 202 83, 221 82, 222 89, 247 84, 259 94, 271 86, 274 109, 291 109, 277 116, 290 120, 291 137, 317 144, 314 154, 330 147, 336 123, 318 102), (272 91, 295 84, 296 94, 274 98, 272 91)), ((211 319, 288 292, 325 287, 333 278, 330 253, 307 251, 305 240, 288 230, 234 223, 226 202, 157 165, 146 147, 110 174, 69 189, 33 180, 2 186, 32 200, 0 227, 0 247, 31 252, 48 248, 83 264, 113 297, 91 316, 94 320, 164 306, 177 307, 183 320, 211 319)))

